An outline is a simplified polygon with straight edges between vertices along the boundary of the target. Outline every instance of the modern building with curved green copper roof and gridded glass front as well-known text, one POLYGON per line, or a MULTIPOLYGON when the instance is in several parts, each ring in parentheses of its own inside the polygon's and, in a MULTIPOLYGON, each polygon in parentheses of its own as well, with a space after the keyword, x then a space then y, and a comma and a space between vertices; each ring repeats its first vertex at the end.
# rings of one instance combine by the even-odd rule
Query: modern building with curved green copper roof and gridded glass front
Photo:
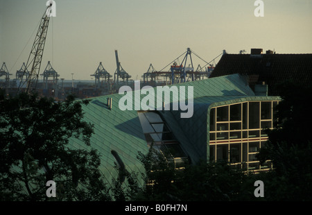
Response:
MULTIPOLYGON (((181 118, 182 110, 123 111, 123 94, 98 96, 83 105, 85 121, 94 124, 91 147, 101 153, 100 169, 109 184, 119 171, 143 172, 137 155, 151 146, 176 168, 225 160, 246 171, 270 169, 270 161, 261 165, 256 155, 268 139, 264 129, 272 128, 279 96, 257 96, 239 74, 174 86, 193 86, 193 117, 181 118)), ((88 148, 78 139, 70 144, 88 148)))

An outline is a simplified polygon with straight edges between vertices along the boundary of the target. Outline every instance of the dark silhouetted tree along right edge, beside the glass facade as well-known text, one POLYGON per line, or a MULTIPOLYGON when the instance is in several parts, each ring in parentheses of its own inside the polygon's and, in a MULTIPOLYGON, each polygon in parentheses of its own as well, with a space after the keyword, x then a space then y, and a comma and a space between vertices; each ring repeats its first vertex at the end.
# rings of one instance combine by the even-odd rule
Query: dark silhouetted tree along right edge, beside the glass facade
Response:
POLYGON ((271 200, 311 200, 312 194, 312 87, 279 85, 281 102, 277 123, 268 130, 266 148, 259 159, 272 160, 274 170, 265 175, 271 200))

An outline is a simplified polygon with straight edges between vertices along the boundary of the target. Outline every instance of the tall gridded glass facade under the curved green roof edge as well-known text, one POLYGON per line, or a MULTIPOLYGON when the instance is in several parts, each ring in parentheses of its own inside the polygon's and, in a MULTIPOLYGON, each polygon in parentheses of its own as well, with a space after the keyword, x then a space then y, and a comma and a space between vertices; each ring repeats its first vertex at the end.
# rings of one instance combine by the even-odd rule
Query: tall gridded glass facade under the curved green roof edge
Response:
POLYGON ((244 170, 272 168, 260 165, 257 153, 265 147, 275 122, 278 101, 248 101, 211 108, 209 119, 209 160, 225 160, 244 170))

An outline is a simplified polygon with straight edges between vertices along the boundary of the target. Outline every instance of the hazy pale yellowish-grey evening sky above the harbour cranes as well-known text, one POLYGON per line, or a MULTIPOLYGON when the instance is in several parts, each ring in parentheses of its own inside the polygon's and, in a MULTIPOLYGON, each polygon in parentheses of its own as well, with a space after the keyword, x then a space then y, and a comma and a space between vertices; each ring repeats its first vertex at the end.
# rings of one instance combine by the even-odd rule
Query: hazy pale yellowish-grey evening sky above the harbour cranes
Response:
MULTIPOLYGON (((263 17, 254 15, 254 2, 55 0, 40 74, 50 61, 60 78, 71 80, 73 73, 75 80, 92 80, 102 62, 114 77, 115 50, 134 80, 150 64, 163 69, 187 48, 202 58, 192 55, 194 67, 223 50, 312 53, 312 0, 263 0, 263 17)), ((6 62, 10 78, 27 61, 45 10, 46 0, 0 0, 0 63, 6 62)))

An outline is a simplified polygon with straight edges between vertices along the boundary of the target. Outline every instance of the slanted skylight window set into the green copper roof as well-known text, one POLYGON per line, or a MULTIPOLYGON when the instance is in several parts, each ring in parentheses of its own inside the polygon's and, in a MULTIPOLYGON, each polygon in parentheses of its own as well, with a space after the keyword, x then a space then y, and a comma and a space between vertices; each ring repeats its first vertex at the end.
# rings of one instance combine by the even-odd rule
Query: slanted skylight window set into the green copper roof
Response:
POLYGON ((181 166, 185 162, 187 154, 180 146, 180 142, 175 139, 166 121, 157 112, 138 112, 146 142, 157 152, 166 157, 167 161, 174 160, 175 166, 181 166))

